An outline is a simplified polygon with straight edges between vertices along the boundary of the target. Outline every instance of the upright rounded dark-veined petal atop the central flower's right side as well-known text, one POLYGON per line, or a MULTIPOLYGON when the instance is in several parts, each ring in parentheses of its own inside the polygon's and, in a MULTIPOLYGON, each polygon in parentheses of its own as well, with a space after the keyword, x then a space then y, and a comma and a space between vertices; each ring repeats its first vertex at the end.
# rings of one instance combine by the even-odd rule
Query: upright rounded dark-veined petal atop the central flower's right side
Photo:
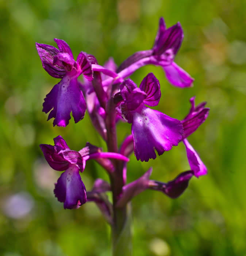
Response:
POLYGON ((161 98, 160 83, 153 73, 149 73, 145 76, 139 88, 147 94, 147 98, 143 101, 146 105, 158 105, 161 98))

